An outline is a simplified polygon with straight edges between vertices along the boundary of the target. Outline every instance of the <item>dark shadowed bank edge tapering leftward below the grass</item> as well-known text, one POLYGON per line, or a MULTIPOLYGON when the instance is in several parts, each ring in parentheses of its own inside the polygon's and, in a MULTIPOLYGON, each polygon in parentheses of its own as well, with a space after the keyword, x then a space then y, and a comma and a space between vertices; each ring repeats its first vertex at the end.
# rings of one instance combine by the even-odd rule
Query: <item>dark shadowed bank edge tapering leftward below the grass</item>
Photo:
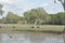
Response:
POLYGON ((42 33, 53 33, 53 34, 62 34, 62 33, 65 33, 63 31, 52 31, 52 30, 15 30, 15 31, 42 32, 42 33))

